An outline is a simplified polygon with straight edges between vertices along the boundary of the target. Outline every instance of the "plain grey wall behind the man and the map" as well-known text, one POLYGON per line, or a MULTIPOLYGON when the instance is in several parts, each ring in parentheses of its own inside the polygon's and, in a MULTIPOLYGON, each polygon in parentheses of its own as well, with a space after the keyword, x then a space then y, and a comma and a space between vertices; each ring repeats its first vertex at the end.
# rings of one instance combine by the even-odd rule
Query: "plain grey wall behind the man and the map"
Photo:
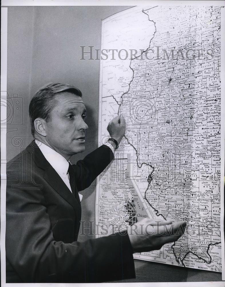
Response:
MULTIPOLYGON (((80 46, 100 49, 101 20, 127 8, 8 7, 7 92, 9 97, 14 97, 12 101, 18 110, 15 108, 13 121, 7 126, 7 160, 30 143, 29 102, 37 89, 49 82, 78 87, 88 110, 86 151, 74 156, 72 162, 97 148, 99 61, 80 60, 80 46)), ((85 221, 94 221, 95 185, 96 181, 82 192, 82 220, 85 221)), ((78 240, 87 238, 79 236, 78 240)), ((135 260, 135 269, 136 279, 123 282, 222 280, 220 273, 147 261, 135 260)))

